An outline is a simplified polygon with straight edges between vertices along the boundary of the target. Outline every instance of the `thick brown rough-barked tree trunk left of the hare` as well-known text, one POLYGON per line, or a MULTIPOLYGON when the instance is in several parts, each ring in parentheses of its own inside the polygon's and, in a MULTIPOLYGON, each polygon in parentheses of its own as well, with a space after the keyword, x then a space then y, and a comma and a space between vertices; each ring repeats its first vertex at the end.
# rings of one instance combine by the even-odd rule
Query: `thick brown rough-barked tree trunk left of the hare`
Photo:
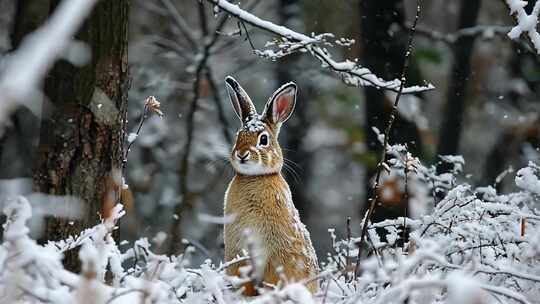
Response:
MULTIPOLYGON (((51 1, 51 12, 58 3, 51 1)), ((99 1, 76 36, 91 50, 89 63, 75 67, 61 61, 46 77, 52 109, 44 110, 50 113, 41 125, 34 187, 78 197, 85 209, 74 223, 49 219, 45 239, 64 239, 95 225, 107 211, 102 204, 118 195, 111 180, 123 159, 128 8, 128 0, 99 1)), ((73 271, 80 267, 74 252, 66 255, 64 264, 73 271)))

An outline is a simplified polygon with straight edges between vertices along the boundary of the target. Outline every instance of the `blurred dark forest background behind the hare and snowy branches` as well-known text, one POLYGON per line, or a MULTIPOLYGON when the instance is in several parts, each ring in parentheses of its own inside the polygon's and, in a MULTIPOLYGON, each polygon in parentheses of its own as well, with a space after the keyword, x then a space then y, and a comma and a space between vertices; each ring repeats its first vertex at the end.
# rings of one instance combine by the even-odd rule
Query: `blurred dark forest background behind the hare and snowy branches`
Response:
MULTIPOLYGON (((328 228, 343 236, 350 217, 352 229, 359 231, 381 149, 372 127, 384 130, 394 93, 347 86, 302 53, 275 61, 260 58, 253 48, 264 48, 273 37, 233 18, 215 18, 213 7, 204 1, 132 0, 129 11, 127 5, 101 2, 86 27, 104 22, 100 13, 117 14, 118 23, 80 35, 83 41, 110 39, 114 45, 116 35, 122 37, 111 33, 128 31, 128 49, 90 47, 92 55, 129 54, 128 70, 126 62, 115 63, 122 66, 116 76, 125 89, 112 92, 127 94, 127 108, 119 107, 127 111, 127 133, 137 129, 148 96, 155 96, 164 112, 163 118, 148 116, 131 147, 126 178, 132 199, 126 200, 122 239, 152 239, 164 232, 168 238, 163 252, 178 252, 178 240, 184 238, 202 258, 221 259, 223 195, 233 175, 227 156, 239 126, 225 92, 226 75, 246 88, 259 109, 281 84, 298 84, 296 111, 281 133, 290 160, 284 174, 295 205, 321 256, 331 248, 328 228)), ((529 12, 533 2, 526 7, 529 12)), ((0 0, 0 53, 17 48, 56 4, 0 0)), ((352 38, 352 46, 332 48, 333 55, 359 58, 377 75, 394 79, 403 65, 415 4, 247 0, 241 6, 295 31, 352 38)), ((462 178, 500 190, 512 187, 512 179, 501 173, 540 161, 540 61, 525 40, 508 39, 513 22, 503 1, 424 1, 407 83, 426 80, 436 89, 403 96, 391 142, 406 143, 414 156, 438 164, 441 172, 449 168, 437 155, 463 155, 467 166, 462 178)), ((40 149, 51 125, 46 112, 70 111, 69 102, 55 98, 78 94, 66 72, 73 69, 86 73, 88 68, 60 62, 47 76, 44 92, 53 107, 46 102, 43 111, 19 108, 9 117, 0 136, 0 200, 15 193, 47 192, 40 182, 40 174, 47 171, 43 166, 63 152, 40 149)), ((113 78, 92 81, 107 86, 113 78)), ((55 123, 68 117, 55 115, 55 123)), ((121 139, 107 138, 103 145, 108 153, 118 153, 111 143, 121 139)), ((376 219, 410 211, 401 203, 400 190, 398 181, 385 180, 376 219)))

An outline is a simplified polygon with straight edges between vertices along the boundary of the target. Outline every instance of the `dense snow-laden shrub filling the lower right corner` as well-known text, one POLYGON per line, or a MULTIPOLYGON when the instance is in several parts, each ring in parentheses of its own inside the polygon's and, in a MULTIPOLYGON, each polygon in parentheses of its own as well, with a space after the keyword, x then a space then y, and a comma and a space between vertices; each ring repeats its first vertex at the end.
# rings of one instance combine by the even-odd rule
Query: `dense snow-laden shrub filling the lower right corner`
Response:
MULTIPOLYGON (((405 146, 394 145, 388 151, 393 157, 388 175, 408 183, 409 196, 420 193, 420 202, 409 203, 411 208, 421 203, 424 213, 370 224, 367 244, 362 245, 369 248, 370 257, 360 264, 357 279, 343 275, 334 280, 334 275, 323 282, 328 301, 537 303, 538 166, 531 163, 518 171, 516 185, 522 191, 498 194, 491 186, 460 184, 454 174, 437 175, 435 167, 424 167, 405 146), (408 242, 398 246, 403 227, 410 231, 408 242), (384 241, 376 229, 386 231, 384 241)), ((461 157, 442 159, 454 164, 455 172, 464 164, 461 157)), ((358 241, 336 242, 327 270, 342 273, 354 263, 358 241)))

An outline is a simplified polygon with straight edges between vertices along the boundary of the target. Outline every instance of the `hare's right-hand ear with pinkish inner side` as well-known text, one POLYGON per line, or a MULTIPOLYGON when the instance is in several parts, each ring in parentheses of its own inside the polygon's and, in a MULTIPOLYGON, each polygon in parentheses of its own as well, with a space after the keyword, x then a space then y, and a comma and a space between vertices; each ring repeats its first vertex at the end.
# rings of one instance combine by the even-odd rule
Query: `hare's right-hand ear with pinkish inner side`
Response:
POLYGON ((263 117, 270 123, 281 124, 291 117, 295 104, 296 84, 289 82, 277 89, 268 100, 264 107, 263 117))

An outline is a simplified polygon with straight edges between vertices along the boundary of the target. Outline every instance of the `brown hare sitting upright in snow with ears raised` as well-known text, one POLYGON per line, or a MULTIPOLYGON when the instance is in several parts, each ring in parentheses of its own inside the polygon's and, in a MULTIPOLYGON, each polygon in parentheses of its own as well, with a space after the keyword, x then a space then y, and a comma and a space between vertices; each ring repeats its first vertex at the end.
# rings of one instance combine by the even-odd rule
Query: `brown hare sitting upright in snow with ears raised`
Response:
MULTIPOLYGON (((228 76, 225 83, 242 122, 229 159, 236 175, 225 192, 225 218, 231 219, 224 227, 225 260, 252 246, 260 250, 256 264, 264 282, 275 285, 283 277, 287 282, 312 278, 319 271, 317 256, 281 175, 283 154, 278 143, 280 127, 294 110, 296 84, 279 88, 259 115, 234 78, 228 76)), ((228 273, 239 275, 241 266, 233 265, 228 273)), ((313 280, 307 287, 315 292, 318 283, 313 280)), ((256 294, 252 285, 245 288, 245 294, 256 294)))

